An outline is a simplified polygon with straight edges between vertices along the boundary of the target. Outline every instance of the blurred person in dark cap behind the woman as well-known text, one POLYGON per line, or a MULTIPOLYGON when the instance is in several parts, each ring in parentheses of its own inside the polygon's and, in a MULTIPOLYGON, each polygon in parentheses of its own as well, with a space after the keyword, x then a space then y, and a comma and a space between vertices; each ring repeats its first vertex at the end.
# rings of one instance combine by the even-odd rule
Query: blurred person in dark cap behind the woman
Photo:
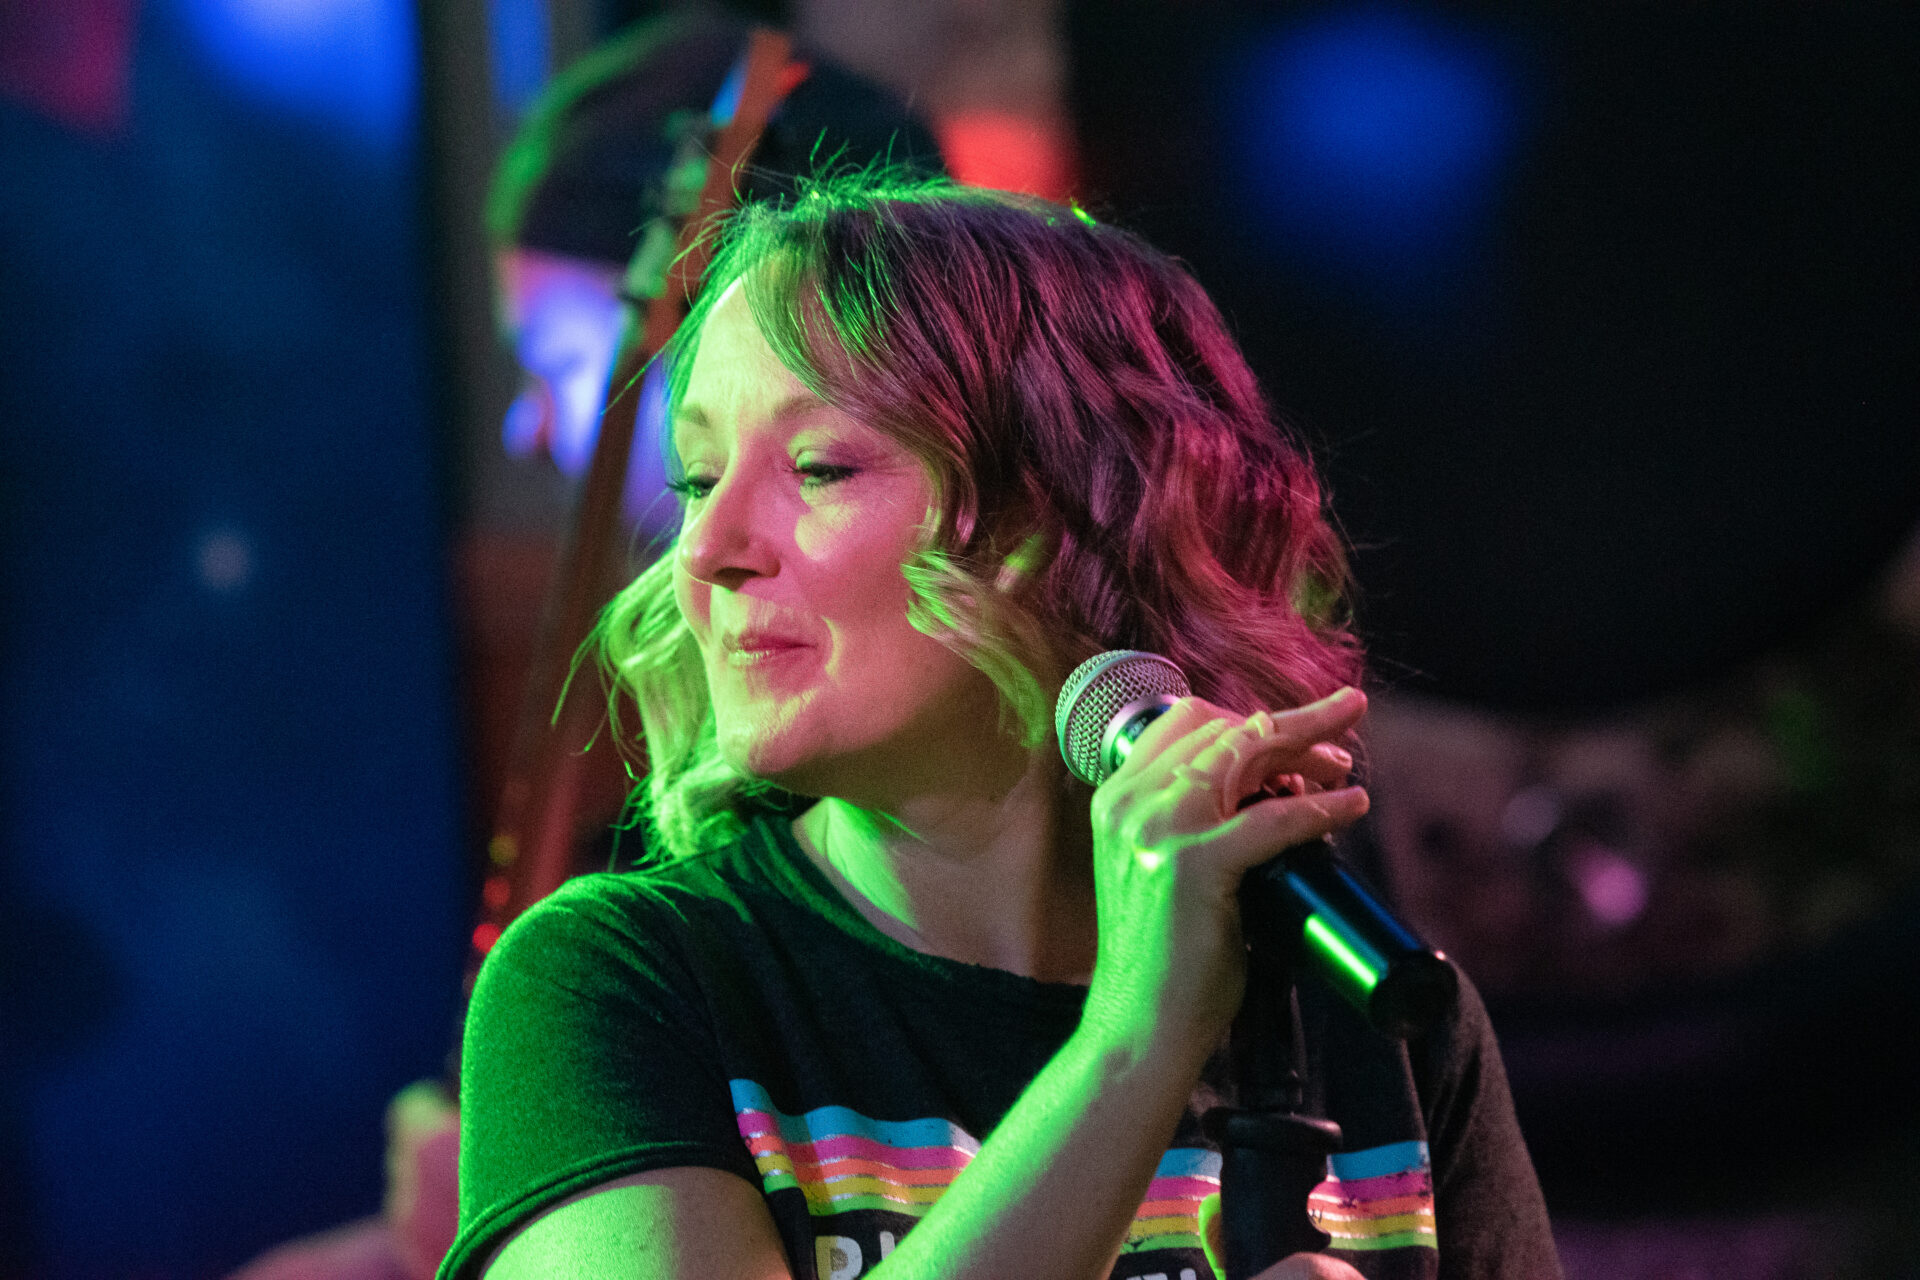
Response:
MULTIPOLYGON (((547 455, 572 478, 586 472, 630 305, 622 276, 636 234, 659 209, 684 130, 707 115, 747 35, 745 19, 710 6, 639 23, 559 75, 507 146, 488 230, 501 334, 524 374, 503 426, 509 455, 547 455)), ((795 61, 804 79, 768 121, 741 175, 743 196, 781 198, 797 175, 874 161, 943 171, 933 132, 887 90, 804 46, 795 61)), ((666 493, 662 391, 655 380, 643 397, 624 497, 643 533, 678 522, 666 493)), ((378 1219, 280 1245, 230 1280, 428 1280, 455 1228, 453 1088, 409 1084, 386 1126, 378 1219)))

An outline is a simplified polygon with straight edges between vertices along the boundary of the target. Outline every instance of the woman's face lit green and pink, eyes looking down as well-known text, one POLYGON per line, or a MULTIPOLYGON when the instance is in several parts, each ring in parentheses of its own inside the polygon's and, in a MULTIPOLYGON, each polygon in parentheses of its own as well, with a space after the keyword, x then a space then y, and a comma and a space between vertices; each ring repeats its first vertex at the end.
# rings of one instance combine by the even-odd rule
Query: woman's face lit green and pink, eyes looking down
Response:
POLYGON ((674 591, 720 752, 801 794, 885 804, 993 731, 993 685, 906 622, 925 468, 814 397, 735 284, 674 411, 685 514, 674 591))

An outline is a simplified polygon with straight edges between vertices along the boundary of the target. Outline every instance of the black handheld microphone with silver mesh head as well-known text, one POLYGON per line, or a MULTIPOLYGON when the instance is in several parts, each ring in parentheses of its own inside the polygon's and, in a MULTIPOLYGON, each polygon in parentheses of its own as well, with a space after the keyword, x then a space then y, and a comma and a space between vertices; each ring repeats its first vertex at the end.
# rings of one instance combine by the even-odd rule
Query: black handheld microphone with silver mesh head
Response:
MULTIPOLYGON (((1077 779, 1098 787, 1133 743, 1175 700, 1190 695, 1181 668, 1154 652, 1110 649, 1087 658, 1054 702, 1060 754, 1077 779)), ((1283 850, 1246 873, 1240 902, 1248 938, 1261 917, 1279 921, 1286 944, 1380 1032, 1407 1038, 1432 1027, 1459 992, 1446 954, 1394 919, 1332 852, 1331 839, 1283 850)))

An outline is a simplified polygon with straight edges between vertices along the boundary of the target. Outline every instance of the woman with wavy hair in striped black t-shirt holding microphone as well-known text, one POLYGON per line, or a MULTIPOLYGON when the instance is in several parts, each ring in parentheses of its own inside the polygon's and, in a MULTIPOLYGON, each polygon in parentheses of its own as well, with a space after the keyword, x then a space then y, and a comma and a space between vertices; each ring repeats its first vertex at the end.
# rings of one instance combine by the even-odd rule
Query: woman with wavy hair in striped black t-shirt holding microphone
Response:
MULTIPOLYGON (((662 856, 488 960, 442 1274, 1198 1280, 1235 889, 1367 808, 1306 457, 1171 259, 948 184, 751 205, 670 359, 603 624, 662 856), (1089 791, 1048 712, 1114 647, 1202 697, 1089 791)), ((1267 1274, 1557 1274, 1471 990, 1407 1048, 1302 1002, 1340 1247, 1267 1274)))

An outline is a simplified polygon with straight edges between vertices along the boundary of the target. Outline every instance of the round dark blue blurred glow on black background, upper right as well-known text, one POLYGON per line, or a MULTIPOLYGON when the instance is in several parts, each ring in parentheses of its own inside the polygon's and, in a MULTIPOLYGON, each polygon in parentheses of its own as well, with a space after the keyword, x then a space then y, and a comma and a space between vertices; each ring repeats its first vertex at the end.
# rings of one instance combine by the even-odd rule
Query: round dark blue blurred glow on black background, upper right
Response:
POLYGON ((1261 217, 1357 265, 1450 249, 1515 132, 1494 48, 1411 8, 1334 12, 1246 63, 1244 173, 1261 217))

